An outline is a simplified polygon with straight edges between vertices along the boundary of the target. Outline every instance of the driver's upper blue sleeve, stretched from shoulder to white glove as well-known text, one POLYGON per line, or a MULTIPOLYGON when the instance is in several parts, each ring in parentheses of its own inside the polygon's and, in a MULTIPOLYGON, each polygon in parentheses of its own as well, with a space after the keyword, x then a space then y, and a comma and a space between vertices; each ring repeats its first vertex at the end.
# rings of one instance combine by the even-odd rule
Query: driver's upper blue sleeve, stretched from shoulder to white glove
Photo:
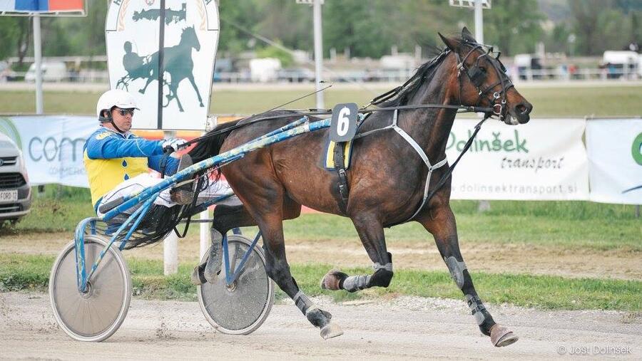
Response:
POLYGON ((109 132, 96 132, 86 142, 89 159, 152 157, 162 155, 161 141, 133 137, 125 139, 109 132))

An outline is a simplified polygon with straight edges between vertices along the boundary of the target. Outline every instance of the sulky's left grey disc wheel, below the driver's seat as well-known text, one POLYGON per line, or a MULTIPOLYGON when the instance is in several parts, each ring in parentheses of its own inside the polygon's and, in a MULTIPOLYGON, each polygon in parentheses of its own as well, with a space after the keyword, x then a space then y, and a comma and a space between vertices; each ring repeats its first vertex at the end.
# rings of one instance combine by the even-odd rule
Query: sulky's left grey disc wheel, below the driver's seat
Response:
MULTIPOLYGON (((101 236, 85 236, 87 273, 108 244, 101 236)), ((112 246, 98 264, 88 291, 78 291, 76 248, 67 244, 51 268, 49 298, 58 325, 78 341, 105 340, 121 327, 131 301, 131 278, 127 263, 112 246)))

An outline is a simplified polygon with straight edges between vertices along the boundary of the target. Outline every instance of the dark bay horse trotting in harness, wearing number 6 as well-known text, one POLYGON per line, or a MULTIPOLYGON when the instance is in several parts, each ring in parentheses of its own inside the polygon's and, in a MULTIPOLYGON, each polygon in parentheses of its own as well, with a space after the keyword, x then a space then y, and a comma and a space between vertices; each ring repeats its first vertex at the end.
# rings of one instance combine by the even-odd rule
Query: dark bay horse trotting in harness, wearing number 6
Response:
MULTIPOLYGON (((532 105, 514 88, 499 60, 489 56, 490 51, 484 51, 467 28, 461 36, 439 36, 447 48, 419 67, 384 106, 482 105, 496 110, 496 115, 507 124, 529 121, 532 105)), ((417 142, 432 164, 445 159, 446 143, 457 113, 453 108, 456 107, 407 108, 398 112, 398 127, 417 142)), ((284 114, 290 113, 277 111, 267 115, 284 114)), ((190 155, 200 161, 243 145, 300 118, 295 112, 291 114, 287 119, 255 122, 207 138, 199 142, 190 155)), ((385 127, 393 116, 392 111, 372 113, 364 120, 359 133, 385 127)), ((240 120, 238 124, 252 119, 240 120)), ((213 132, 235 124, 225 123, 213 132)), ((384 227, 412 218, 434 236, 439 253, 454 283, 464 294, 481 333, 490 336, 497 347, 515 342, 517 336, 495 323, 484 307, 459 251, 457 226, 449 206, 451 178, 436 188, 437 181, 448 172, 447 167, 433 169, 429 190, 436 193, 423 204, 429 169, 408 142, 392 130, 355 139, 352 164, 347 170, 350 196, 342 211, 337 172, 328 172, 322 165, 327 137, 327 130, 298 135, 251 152, 223 167, 225 178, 244 206, 217 206, 213 217, 213 242, 220 242, 221 235, 235 226, 258 225, 263 234, 268 276, 295 301, 312 325, 321 328, 322 338, 332 338, 342 334, 341 328, 331 321, 330 313, 318 308, 302 293, 290 274, 282 221, 299 216, 302 204, 349 217, 374 263, 374 273, 348 276, 332 270, 322 279, 322 288, 355 292, 389 285, 393 276, 392 255, 386 248, 384 227)), ((195 271, 199 267, 202 272, 206 266, 200 265, 195 271)))

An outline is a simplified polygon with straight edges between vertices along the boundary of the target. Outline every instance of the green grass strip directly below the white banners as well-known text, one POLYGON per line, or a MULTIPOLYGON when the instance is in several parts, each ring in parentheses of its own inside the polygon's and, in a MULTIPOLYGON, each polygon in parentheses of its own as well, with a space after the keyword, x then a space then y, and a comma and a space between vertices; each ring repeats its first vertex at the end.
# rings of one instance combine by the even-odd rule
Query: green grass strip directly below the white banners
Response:
MULTIPOLYGON (((491 201, 490 204, 489 211, 479 213, 477 202, 452 202, 462 244, 562 245, 598 250, 623 247, 642 251, 642 221, 635 218, 635 207, 631 205, 579 201, 491 201)), ((0 236, 72 232, 78 221, 91 215, 93 209, 88 189, 51 185, 45 187, 44 194, 34 197, 31 213, 15 228, 0 230, 0 236)), ((190 234, 197 233, 198 227, 190 228, 190 234)), ((285 237, 358 242, 350 219, 329 214, 304 214, 293 221, 286 221, 285 237)), ((432 236, 417 223, 386 229, 386 237, 389 244, 432 240, 432 236)))

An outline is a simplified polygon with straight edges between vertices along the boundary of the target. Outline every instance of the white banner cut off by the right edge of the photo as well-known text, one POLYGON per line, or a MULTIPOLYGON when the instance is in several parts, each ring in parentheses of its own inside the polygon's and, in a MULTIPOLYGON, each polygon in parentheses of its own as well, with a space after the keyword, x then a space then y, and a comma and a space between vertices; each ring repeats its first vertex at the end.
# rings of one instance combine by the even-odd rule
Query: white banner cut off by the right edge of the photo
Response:
POLYGON ((586 126, 591 201, 642 204, 642 119, 592 119, 586 126))

